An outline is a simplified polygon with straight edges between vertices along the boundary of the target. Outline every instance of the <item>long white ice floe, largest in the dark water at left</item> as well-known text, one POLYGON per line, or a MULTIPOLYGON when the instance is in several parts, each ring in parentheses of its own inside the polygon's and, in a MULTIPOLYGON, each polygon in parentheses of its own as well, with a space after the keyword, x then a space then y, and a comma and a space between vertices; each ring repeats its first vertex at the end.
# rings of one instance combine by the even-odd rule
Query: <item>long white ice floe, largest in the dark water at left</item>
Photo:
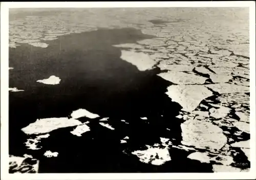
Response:
POLYGON ((81 125, 82 123, 76 119, 68 118, 45 118, 37 119, 34 123, 22 128, 26 134, 40 134, 51 132, 55 129, 63 127, 71 127, 81 125))

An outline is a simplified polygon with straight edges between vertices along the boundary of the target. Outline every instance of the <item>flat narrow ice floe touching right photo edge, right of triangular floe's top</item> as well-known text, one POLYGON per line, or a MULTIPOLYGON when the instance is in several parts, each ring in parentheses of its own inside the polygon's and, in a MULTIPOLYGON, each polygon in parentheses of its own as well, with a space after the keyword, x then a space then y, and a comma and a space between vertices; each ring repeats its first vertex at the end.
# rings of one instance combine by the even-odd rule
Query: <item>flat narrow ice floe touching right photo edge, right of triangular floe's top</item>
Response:
POLYGON ((216 84, 207 84, 206 87, 209 87, 215 92, 220 94, 227 93, 248 93, 250 88, 247 86, 229 84, 229 83, 216 83, 216 84))

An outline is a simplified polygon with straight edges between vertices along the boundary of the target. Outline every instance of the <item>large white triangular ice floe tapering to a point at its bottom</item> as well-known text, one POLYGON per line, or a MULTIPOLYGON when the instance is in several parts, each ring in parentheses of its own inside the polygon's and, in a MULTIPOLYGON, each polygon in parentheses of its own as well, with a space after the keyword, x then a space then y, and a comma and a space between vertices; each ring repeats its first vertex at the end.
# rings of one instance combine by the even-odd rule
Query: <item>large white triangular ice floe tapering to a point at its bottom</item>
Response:
POLYGON ((213 95, 203 85, 171 85, 165 94, 179 103, 184 111, 195 110, 202 100, 213 95))

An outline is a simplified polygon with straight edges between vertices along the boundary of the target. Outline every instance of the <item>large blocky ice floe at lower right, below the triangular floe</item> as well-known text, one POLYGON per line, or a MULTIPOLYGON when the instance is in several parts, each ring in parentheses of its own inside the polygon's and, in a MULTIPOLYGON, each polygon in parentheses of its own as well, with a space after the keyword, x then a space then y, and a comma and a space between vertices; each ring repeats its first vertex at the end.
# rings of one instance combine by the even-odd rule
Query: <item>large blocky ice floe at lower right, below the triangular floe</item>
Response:
POLYGON ((220 127, 206 121, 187 120, 181 124, 182 144, 200 149, 221 149, 227 142, 220 127))

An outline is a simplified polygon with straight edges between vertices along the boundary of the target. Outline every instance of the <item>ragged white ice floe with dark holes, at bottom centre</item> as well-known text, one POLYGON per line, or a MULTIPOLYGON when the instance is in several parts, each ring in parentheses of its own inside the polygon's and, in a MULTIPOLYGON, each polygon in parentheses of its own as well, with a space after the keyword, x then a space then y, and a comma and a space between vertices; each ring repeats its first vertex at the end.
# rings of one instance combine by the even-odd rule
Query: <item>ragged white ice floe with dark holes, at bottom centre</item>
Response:
POLYGON ((146 145, 146 147, 146 150, 137 150, 132 152, 132 154, 139 158, 140 162, 159 166, 171 160, 167 147, 159 148, 151 147, 149 145, 146 145))

